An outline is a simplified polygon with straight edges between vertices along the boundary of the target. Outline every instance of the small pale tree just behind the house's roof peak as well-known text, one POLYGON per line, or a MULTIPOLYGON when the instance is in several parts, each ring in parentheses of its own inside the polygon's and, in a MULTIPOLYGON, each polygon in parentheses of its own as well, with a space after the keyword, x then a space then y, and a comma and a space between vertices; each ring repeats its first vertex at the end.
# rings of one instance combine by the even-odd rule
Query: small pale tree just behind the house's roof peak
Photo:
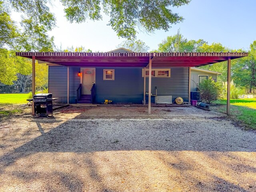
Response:
POLYGON ((148 52, 149 46, 141 40, 126 40, 120 43, 116 48, 126 48, 133 52, 148 52))

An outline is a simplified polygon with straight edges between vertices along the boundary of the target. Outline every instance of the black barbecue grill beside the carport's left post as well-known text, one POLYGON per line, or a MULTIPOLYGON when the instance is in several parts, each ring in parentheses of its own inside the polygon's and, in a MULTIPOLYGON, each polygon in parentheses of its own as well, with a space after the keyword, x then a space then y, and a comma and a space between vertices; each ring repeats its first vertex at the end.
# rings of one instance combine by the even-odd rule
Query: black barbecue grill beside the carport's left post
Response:
POLYGON ((48 116, 52 114, 52 101, 58 98, 52 98, 52 93, 40 93, 27 101, 32 102, 32 115, 48 116))

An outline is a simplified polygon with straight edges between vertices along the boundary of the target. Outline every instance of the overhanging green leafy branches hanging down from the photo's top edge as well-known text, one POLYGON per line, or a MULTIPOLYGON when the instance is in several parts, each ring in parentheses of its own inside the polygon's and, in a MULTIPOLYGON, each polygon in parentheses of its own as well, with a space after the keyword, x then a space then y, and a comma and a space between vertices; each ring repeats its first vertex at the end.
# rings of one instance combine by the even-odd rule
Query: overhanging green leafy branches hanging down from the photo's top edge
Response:
MULTIPOLYGON (((56 19, 50 12, 48 0, 5 0, 15 11, 23 12, 28 18, 51 30, 56 19)), ((184 18, 172 12, 171 7, 186 5, 190 0, 60 0, 66 18, 70 22, 101 20, 102 12, 110 17, 108 25, 119 37, 132 39, 136 28, 146 32, 168 31, 172 24, 184 18)))

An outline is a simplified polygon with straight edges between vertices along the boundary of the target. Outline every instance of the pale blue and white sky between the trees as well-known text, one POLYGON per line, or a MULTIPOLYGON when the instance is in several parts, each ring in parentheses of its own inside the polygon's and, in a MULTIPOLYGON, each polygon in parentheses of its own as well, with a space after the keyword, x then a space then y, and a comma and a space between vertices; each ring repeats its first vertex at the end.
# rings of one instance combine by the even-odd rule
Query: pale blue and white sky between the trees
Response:
MULTIPOLYGON (((110 26, 108 16, 101 21, 90 21, 82 24, 70 23, 66 20, 64 7, 56 0, 51 7, 57 19, 57 27, 51 32, 54 43, 62 49, 71 46, 84 46, 92 51, 110 51, 125 39, 118 38, 110 26)), ((220 42, 232 49, 248 50, 256 40, 256 0, 192 0, 190 4, 172 8, 184 17, 184 21, 172 25, 168 32, 157 30, 153 34, 139 32, 140 39, 150 47, 158 48, 158 44, 167 36, 181 34, 194 40, 204 39, 209 44, 220 42)))

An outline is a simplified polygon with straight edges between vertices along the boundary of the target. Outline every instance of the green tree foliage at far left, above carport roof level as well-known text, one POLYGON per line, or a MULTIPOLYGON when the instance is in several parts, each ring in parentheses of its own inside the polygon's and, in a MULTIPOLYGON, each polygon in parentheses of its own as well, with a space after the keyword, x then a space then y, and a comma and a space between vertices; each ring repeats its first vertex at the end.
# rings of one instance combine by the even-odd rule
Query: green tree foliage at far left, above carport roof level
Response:
POLYGON ((32 17, 22 17, 20 26, 11 19, 7 2, 0 0, 0 48, 20 51, 53 50, 54 39, 47 35, 47 26, 40 25, 32 17))

